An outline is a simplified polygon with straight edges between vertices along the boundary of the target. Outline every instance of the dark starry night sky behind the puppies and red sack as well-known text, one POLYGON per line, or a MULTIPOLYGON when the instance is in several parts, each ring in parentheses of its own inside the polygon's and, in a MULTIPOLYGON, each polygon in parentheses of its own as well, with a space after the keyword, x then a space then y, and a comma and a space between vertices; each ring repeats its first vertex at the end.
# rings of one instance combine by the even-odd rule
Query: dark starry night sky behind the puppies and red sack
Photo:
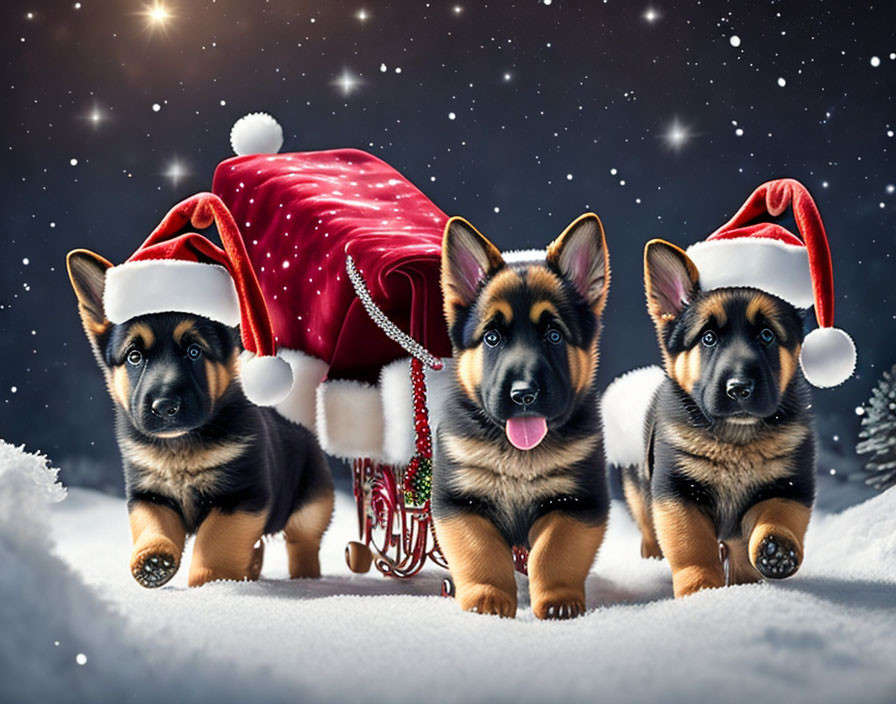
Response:
POLYGON ((803 181, 858 346, 857 377, 814 393, 825 461, 848 465, 856 407, 896 362, 896 3, 859 6, 4 2, 0 437, 119 481, 65 254, 123 261, 263 110, 284 151, 371 151, 500 247, 597 212, 601 386, 659 359, 644 243, 689 245, 761 182, 803 181))

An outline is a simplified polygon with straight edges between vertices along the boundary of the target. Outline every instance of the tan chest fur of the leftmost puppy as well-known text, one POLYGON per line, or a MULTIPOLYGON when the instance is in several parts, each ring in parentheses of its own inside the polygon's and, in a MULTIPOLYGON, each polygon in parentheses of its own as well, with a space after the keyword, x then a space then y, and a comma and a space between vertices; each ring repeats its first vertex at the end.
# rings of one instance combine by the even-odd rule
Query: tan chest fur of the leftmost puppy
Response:
POLYGON ((166 496, 181 507, 188 524, 195 519, 196 493, 214 490, 218 468, 243 455, 251 439, 203 445, 170 447, 144 445, 133 440, 122 443, 125 457, 139 469, 136 489, 166 496))

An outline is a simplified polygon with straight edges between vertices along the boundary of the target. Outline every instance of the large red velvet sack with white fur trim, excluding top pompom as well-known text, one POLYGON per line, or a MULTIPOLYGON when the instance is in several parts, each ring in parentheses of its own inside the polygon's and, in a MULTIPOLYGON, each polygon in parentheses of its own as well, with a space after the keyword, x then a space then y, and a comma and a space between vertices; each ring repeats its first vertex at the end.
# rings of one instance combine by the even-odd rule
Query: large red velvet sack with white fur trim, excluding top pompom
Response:
POLYGON ((218 166, 212 190, 242 229, 280 354, 293 365, 296 384, 278 410, 316 425, 332 454, 382 457, 379 378, 407 352, 365 309, 346 258, 385 318, 448 357, 438 285, 448 217, 391 166, 355 149, 238 156, 218 166))

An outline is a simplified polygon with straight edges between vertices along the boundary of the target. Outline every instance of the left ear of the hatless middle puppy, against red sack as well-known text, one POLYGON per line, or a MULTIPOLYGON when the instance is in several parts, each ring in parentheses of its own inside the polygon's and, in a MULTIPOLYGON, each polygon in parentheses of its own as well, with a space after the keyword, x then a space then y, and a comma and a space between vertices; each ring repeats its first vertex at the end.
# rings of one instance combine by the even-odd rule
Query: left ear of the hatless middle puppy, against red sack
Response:
POLYGON ((449 328, 457 309, 473 303, 482 282, 503 265, 498 248, 470 223, 458 217, 448 221, 442 239, 442 296, 449 328))

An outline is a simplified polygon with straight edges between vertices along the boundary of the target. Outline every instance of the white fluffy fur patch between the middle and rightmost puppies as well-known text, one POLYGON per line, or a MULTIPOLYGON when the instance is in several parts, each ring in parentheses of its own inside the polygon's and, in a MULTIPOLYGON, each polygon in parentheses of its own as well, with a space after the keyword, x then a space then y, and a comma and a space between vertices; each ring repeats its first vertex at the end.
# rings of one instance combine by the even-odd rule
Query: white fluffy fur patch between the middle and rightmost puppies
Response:
POLYGON ((642 367, 617 377, 604 391, 600 406, 608 463, 629 467, 644 461, 647 411, 665 378, 660 367, 642 367))

